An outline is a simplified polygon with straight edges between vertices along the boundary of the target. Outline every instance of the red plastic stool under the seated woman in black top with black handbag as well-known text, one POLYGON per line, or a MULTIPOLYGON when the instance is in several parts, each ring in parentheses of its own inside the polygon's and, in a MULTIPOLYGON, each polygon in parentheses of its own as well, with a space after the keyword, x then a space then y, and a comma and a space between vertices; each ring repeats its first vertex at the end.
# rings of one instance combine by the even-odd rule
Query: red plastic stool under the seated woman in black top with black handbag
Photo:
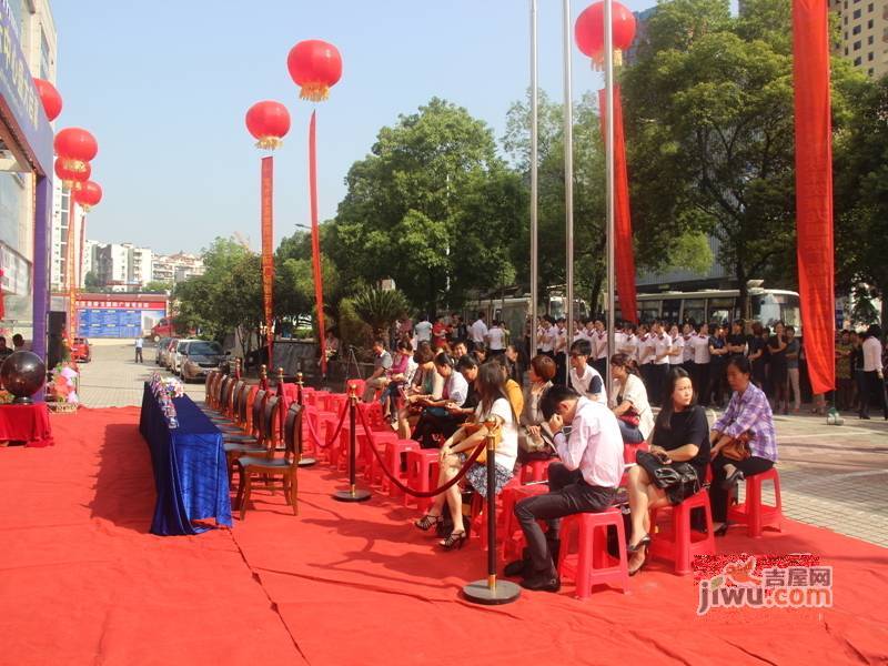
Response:
POLYGON ((672 512, 672 529, 652 535, 649 555, 675 563, 676 574, 689 574, 695 555, 715 555, 713 538, 713 512, 709 508, 709 493, 706 488, 692 495, 682 504, 652 511, 650 523, 656 525, 659 511, 672 512), (690 511, 702 507, 706 513, 706 534, 690 529, 690 511))

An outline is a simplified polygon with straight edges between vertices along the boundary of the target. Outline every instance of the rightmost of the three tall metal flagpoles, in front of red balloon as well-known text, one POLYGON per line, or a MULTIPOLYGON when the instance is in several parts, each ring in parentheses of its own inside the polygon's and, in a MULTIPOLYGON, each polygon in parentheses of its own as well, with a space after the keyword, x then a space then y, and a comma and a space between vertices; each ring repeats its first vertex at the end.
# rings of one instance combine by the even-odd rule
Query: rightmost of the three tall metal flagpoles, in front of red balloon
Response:
MULTIPOLYGON (((604 0, 604 89, 605 89, 605 173, 607 179, 607 351, 616 350, 614 296, 614 23, 613 0, 604 0)), ((629 316, 633 313, 629 313, 629 316)), ((607 364, 608 395, 613 390, 610 364, 607 364)))

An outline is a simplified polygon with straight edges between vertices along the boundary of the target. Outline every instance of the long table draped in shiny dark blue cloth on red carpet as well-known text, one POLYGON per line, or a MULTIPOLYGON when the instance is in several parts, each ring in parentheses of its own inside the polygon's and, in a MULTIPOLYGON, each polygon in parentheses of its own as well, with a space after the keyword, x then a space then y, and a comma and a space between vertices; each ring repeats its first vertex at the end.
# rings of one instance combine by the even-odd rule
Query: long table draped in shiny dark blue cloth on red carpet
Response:
POLYGON ((179 427, 170 428, 151 386, 144 385, 139 432, 151 450, 158 503, 151 533, 198 534, 215 518, 231 526, 231 497, 222 433, 186 395, 174 397, 179 427))

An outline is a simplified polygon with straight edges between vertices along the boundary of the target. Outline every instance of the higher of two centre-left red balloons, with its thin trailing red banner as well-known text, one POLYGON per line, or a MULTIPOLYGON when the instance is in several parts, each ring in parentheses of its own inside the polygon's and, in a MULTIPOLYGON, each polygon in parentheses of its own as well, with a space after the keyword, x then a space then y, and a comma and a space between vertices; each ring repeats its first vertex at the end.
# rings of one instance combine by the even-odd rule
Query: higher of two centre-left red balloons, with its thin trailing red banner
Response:
MULTIPOLYGON (((286 57, 286 69, 300 87, 300 98, 323 102, 330 89, 342 78, 342 57, 331 43, 319 39, 299 42, 286 57)), ((321 350, 321 374, 326 376, 326 333, 324 331, 324 284, 321 274, 321 231, 317 223, 317 142, 316 112, 312 111, 309 124, 309 186, 312 212, 312 271, 314 300, 317 309, 317 340, 321 350)))

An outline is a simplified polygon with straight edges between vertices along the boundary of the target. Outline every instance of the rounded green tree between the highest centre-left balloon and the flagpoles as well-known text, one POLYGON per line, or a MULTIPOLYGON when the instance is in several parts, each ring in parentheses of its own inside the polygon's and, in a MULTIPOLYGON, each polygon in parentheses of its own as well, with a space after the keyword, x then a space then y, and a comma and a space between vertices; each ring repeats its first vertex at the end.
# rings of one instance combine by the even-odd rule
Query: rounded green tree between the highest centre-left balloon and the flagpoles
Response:
POLYGON ((392 278, 434 312, 514 274, 501 246, 519 235, 524 191, 490 128, 465 109, 433 99, 400 117, 346 184, 324 246, 346 284, 392 278))

